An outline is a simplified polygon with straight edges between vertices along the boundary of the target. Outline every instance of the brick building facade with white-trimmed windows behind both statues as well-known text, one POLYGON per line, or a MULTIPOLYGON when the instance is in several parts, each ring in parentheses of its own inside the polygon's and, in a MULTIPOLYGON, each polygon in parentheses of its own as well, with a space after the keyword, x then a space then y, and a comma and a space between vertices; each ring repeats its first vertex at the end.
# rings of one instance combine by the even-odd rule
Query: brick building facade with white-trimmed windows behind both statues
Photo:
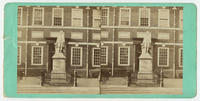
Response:
POLYGON ((137 73, 143 37, 151 34, 153 71, 181 78, 183 68, 183 7, 18 8, 18 72, 39 76, 52 70, 56 35, 65 33, 66 72, 97 77, 137 73))

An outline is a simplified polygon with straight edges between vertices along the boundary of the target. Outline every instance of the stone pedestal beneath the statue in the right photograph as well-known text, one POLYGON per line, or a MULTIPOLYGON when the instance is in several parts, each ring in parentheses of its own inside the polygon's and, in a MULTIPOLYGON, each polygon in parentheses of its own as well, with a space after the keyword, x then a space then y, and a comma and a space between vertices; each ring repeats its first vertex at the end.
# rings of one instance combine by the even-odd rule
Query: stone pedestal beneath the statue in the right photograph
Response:
POLYGON ((137 75, 137 84, 153 83, 152 57, 149 53, 142 53, 139 57, 139 72, 137 75))

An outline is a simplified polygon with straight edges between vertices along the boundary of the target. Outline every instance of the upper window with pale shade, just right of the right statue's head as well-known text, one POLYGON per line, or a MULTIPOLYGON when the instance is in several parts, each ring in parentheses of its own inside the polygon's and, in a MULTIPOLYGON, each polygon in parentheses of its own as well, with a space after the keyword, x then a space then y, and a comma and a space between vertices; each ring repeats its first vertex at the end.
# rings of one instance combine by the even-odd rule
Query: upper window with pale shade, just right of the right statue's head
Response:
POLYGON ((160 27, 169 27, 169 10, 159 9, 158 10, 158 25, 160 27))

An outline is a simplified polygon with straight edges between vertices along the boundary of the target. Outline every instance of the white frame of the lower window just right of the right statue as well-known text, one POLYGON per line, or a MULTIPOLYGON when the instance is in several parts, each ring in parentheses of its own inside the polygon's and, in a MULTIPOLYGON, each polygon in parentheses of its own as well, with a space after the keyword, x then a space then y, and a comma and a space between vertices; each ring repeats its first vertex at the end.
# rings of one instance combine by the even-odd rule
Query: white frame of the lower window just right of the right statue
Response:
POLYGON ((169 66, 169 48, 168 47, 158 47, 158 62, 157 65, 159 67, 168 67, 169 66), (167 49, 167 65, 160 65, 160 49, 167 49))

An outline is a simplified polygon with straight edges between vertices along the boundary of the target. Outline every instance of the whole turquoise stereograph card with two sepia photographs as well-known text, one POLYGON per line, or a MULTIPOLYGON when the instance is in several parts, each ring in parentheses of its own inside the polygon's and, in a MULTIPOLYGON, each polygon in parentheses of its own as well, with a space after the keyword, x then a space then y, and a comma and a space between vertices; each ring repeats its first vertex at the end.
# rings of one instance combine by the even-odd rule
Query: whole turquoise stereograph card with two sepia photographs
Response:
POLYGON ((7 4, 5 95, 193 97, 195 15, 181 3, 7 4))

